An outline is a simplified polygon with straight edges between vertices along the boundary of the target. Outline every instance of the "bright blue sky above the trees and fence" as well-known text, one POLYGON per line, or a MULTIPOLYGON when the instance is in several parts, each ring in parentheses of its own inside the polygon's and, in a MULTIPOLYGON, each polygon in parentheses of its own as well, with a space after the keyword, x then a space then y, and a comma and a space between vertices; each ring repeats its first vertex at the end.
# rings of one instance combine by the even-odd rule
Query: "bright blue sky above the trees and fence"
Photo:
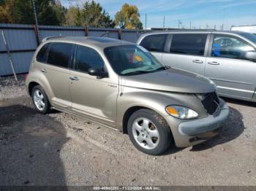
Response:
MULTIPOLYGON (((61 0, 64 6, 81 6, 84 0, 61 0)), ((95 0, 109 12, 113 18, 122 4, 134 4, 140 12, 140 20, 147 28, 162 27, 165 16, 165 27, 178 28, 214 28, 230 29, 233 25, 256 25, 256 0, 95 0)))

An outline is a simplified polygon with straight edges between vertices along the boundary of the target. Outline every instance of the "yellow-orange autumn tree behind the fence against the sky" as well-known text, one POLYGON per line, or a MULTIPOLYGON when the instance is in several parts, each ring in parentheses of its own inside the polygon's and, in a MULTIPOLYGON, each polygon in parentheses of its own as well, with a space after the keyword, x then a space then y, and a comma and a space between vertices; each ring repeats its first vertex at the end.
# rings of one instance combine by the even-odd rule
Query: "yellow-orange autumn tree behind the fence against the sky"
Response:
POLYGON ((127 29, 142 29, 140 13, 135 5, 124 4, 115 15, 116 26, 127 29))

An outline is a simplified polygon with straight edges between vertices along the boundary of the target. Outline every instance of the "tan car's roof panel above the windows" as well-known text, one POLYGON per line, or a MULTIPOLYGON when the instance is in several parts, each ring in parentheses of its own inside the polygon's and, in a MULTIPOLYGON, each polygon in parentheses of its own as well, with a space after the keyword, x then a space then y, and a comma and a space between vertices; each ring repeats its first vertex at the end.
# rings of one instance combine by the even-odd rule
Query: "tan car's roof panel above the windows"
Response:
POLYGON ((75 44, 84 44, 101 49, 105 47, 113 47, 120 45, 131 45, 134 43, 126 42, 123 40, 106 38, 106 37, 93 37, 93 36, 50 36, 43 40, 43 42, 69 42, 75 44))

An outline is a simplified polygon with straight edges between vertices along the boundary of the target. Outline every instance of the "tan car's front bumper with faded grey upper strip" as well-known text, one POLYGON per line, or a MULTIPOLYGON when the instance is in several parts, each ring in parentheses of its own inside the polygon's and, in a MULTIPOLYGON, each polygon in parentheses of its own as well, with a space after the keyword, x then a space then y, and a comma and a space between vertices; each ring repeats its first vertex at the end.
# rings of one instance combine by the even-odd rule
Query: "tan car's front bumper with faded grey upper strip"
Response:
POLYGON ((179 123, 176 130, 173 130, 176 147, 190 147, 200 144, 219 133, 230 112, 225 101, 221 99, 220 101, 222 104, 219 106, 219 112, 216 116, 208 115, 208 117, 199 120, 188 120, 179 123))

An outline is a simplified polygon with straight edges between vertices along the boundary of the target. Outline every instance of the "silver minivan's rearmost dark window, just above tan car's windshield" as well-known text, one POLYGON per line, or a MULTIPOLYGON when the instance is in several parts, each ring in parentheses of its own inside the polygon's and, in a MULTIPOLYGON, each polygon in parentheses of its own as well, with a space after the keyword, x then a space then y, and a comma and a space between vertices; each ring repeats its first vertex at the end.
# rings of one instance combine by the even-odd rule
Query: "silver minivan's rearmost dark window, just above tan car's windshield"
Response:
POLYGON ((146 36, 140 45, 149 51, 164 52, 167 34, 154 34, 146 36))

